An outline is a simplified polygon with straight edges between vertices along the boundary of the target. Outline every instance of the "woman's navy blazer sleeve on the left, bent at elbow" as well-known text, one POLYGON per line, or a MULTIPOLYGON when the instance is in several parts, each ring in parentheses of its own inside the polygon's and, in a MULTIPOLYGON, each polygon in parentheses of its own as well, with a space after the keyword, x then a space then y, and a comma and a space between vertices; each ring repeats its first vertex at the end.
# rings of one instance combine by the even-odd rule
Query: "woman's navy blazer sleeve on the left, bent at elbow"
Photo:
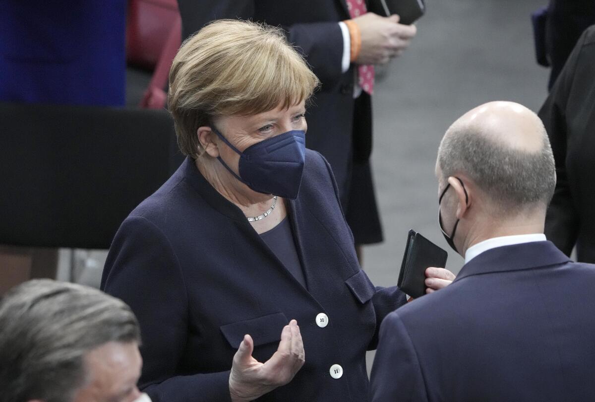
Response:
POLYGON ((101 289, 126 302, 139 320, 139 387, 154 402, 231 400, 228 371, 176 375, 187 338, 186 286, 170 242, 154 223, 142 216, 124 221, 109 250, 101 289))

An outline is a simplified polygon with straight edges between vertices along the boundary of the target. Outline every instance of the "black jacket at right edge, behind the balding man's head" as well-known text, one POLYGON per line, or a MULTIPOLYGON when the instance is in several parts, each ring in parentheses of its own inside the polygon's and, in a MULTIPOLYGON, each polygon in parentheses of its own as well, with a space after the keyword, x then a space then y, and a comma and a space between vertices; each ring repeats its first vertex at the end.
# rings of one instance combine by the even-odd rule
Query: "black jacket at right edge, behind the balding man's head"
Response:
POLYGON ((585 31, 539 117, 556 160, 556 192, 546 236, 578 260, 595 263, 595 26, 585 31))

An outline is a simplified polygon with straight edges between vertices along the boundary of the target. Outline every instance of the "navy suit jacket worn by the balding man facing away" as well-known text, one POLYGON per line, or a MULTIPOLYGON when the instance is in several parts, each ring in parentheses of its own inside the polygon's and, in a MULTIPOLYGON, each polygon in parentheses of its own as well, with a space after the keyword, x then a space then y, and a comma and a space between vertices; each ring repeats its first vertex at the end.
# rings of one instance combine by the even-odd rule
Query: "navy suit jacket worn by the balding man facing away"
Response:
POLYGON ((595 400, 595 266, 551 242, 488 250, 389 314, 374 401, 595 400))

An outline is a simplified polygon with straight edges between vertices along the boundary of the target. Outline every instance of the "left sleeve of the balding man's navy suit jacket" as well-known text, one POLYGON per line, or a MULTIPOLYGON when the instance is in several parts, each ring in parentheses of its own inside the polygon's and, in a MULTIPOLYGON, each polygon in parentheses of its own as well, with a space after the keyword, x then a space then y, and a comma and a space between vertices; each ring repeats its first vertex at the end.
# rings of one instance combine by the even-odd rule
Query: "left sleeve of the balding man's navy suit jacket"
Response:
POLYGON ((417 353, 397 313, 389 314, 380 328, 380 343, 370 378, 370 400, 428 400, 417 353))

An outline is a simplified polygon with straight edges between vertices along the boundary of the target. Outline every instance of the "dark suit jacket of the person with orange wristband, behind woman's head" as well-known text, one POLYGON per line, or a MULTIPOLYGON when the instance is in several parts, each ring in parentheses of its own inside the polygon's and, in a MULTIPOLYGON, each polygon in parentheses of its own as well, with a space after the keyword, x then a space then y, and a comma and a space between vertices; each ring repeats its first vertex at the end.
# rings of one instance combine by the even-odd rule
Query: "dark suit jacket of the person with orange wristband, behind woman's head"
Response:
POLYGON ((341 72, 343 36, 337 23, 350 18, 346 1, 179 0, 179 6, 184 38, 220 18, 250 18, 286 30, 287 40, 305 55, 321 81, 306 114, 306 146, 321 152, 333 167, 345 206, 352 156, 364 163, 372 149, 371 98, 364 93, 354 109, 353 65, 341 72))

